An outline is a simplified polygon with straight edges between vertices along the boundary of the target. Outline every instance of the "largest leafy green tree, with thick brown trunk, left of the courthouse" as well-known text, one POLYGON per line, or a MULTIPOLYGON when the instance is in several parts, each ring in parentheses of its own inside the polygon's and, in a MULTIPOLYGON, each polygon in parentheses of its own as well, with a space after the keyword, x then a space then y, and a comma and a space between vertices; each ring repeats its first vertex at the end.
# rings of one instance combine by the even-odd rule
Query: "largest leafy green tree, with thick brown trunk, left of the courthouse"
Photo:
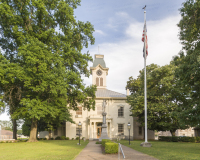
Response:
POLYGON ((94 44, 90 22, 76 21, 73 10, 80 0, 13 1, 0 3, 0 46, 4 57, 21 68, 20 106, 13 118, 31 119, 29 142, 36 141, 37 122, 70 121, 70 109, 81 103, 95 106, 94 86, 86 87, 89 53, 94 44), (90 98, 88 98, 90 97, 90 98))

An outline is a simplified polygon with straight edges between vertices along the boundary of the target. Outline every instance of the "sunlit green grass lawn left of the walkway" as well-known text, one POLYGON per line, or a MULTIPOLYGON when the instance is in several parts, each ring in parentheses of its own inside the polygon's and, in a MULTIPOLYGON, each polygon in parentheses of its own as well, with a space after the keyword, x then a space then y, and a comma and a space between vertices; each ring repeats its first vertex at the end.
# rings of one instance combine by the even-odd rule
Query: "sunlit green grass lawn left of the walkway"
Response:
POLYGON ((0 143, 0 159, 74 159, 89 141, 78 140, 41 140, 38 142, 0 143))

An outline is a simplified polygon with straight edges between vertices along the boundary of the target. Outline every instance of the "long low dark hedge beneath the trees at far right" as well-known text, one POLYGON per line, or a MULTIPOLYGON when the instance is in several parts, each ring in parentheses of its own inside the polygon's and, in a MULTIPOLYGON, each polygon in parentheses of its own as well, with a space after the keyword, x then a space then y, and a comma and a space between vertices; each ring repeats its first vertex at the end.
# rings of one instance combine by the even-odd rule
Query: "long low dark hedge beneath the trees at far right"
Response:
POLYGON ((200 137, 159 136, 159 141, 167 141, 167 142, 200 142, 200 137))

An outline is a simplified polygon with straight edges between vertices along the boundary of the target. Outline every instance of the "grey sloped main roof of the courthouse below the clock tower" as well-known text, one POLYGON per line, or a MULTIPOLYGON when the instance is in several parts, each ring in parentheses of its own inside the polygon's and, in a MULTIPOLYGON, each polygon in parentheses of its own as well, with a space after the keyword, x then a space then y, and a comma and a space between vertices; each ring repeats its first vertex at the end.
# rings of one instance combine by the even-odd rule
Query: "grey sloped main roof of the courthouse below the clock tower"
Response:
POLYGON ((114 92, 105 88, 97 88, 96 97, 119 97, 119 98, 126 98, 125 94, 114 92))

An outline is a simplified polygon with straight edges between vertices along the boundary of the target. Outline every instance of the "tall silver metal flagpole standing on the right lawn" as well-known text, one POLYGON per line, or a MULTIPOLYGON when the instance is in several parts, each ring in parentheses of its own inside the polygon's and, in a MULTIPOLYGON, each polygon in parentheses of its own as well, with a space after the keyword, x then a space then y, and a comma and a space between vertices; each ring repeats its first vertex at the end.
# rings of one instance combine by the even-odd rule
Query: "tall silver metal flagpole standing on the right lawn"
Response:
POLYGON ((144 110, 145 110, 145 143, 147 143, 147 81, 146 81, 146 11, 144 10, 144 110))

